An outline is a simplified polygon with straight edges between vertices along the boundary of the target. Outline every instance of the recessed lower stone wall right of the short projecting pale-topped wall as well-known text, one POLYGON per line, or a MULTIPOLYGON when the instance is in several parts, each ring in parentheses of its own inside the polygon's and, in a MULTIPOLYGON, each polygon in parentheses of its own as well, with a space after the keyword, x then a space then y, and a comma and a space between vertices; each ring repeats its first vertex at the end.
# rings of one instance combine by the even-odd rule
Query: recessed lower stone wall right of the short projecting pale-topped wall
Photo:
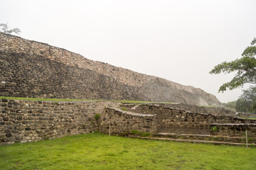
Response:
POLYGON ((156 115, 156 132, 210 135, 211 123, 256 123, 256 120, 235 118, 232 115, 193 113, 149 104, 134 107, 122 105, 125 106, 136 113, 156 115))

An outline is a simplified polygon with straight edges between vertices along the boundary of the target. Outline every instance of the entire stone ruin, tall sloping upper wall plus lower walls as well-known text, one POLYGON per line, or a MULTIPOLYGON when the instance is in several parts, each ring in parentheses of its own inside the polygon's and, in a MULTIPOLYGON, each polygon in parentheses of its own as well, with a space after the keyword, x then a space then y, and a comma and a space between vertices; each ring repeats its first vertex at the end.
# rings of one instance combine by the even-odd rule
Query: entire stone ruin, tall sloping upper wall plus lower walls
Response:
POLYGON ((0 145, 104 132, 156 139, 256 143, 256 120, 218 107, 212 94, 132 72, 41 42, 0 33, 0 96, 82 98, 50 102, 0 98, 0 145), (105 100, 171 101, 124 104, 105 100), (198 106, 196 106, 198 105, 198 106), (95 120, 95 115, 100 119, 95 120), (248 140, 247 139, 247 140, 248 140))

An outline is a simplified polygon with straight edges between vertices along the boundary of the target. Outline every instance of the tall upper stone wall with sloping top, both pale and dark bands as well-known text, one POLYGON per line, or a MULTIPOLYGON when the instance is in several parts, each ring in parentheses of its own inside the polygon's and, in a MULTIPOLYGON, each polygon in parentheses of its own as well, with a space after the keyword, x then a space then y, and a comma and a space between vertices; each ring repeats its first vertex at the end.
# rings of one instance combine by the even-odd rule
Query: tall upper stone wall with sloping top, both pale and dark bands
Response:
POLYGON ((0 33, 0 96, 171 101, 220 106, 201 89, 0 33))

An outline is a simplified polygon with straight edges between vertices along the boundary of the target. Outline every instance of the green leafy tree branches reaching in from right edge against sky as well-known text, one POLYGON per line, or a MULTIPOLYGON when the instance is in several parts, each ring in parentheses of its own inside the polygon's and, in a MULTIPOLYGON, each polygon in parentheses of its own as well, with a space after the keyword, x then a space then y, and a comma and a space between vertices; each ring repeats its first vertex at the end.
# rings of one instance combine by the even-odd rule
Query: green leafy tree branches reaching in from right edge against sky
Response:
POLYGON ((219 92, 226 91, 227 88, 233 90, 246 83, 256 84, 255 44, 256 38, 252 40, 252 46, 247 47, 244 52, 242 52, 242 58, 232 62, 218 64, 210 71, 210 74, 237 72, 231 81, 220 86, 220 89, 218 90, 219 92))

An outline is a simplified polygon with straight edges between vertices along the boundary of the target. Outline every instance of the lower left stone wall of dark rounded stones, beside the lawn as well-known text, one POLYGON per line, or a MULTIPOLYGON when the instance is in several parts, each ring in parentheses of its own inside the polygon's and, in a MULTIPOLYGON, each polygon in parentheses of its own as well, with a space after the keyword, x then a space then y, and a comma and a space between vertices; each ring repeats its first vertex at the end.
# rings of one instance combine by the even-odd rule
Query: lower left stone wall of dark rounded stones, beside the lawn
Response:
POLYGON ((0 99, 0 145, 33 142, 97 130, 95 114, 113 102, 55 103, 0 99))

